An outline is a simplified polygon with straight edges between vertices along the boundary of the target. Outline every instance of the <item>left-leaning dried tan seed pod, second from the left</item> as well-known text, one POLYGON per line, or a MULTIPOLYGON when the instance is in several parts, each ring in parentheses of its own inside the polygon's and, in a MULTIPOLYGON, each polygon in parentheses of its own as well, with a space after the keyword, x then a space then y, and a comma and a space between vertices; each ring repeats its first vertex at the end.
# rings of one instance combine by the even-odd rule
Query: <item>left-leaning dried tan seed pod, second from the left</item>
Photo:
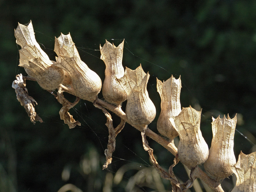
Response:
POLYGON ((100 77, 81 59, 70 34, 55 38, 57 67, 68 72, 77 97, 93 102, 101 89, 100 77))

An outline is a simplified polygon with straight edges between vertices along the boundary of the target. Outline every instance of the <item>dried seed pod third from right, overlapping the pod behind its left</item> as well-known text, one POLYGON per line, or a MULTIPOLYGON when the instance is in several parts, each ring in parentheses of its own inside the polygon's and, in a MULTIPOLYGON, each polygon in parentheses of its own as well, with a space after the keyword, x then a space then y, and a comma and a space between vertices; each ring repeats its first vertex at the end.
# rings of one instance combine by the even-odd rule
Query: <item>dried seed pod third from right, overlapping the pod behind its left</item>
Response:
POLYGON ((179 159, 189 169, 204 163, 209 155, 208 145, 200 131, 200 120, 201 111, 196 111, 191 106, 182 108, 178 116, 170 118, 180 136, 179 159))

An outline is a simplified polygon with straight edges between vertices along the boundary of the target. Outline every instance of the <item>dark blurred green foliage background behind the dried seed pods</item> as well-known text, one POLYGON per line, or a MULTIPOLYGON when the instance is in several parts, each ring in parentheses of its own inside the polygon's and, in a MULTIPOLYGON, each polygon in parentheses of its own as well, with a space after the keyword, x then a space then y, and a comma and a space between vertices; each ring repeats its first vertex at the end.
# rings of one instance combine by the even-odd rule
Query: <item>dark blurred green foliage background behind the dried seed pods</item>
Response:
MULTIPOLYGON (((102 191, 109 171, 114 174, 129 161, 148 162, 140 133, 126 125, 117 137, 113 164, 109 171, 101 171, 108 141, 102 112, 82 100, 71 110, 82 126, 69 130, 59 118, 60 104, 36 82, 27 82, 27 87, 38 102, 36 110, 44 123, 33 125, 29 121, 11 88, 17 74, 26 74, 18 66, 19 47, 14 37, 18 22, 32 20, 36 39, 52 60, 54 36, 70 32, 81 59, 102 81, 105 65, 99 59, 99 45, 107 39, 117 46, 125 39, 123 66, 135 69, 141 63, 149 71, 148 92, 157 116, 160 97, 156 76, 162 81, 171 75, 181 76, 181 105, 203 108, 201 130, 210 147, 211 116, 228 113, 231 117, 236 113, 243 116, 244 124, 239 123, 237 130, 256 143, 255 10, 253 0, 0 1, 0 191, 53 192, 65 183, 83 191, 102 191), (100 163, 94 172, 82 176, 79 162, 92 150, 99 154, 100 163), (67 166, 71 168, 70 179, 63 181, 61 172, 67 166), (12 182, 13 190, 4 189, 7 181, 12 182)), ((157 117, 149 125, 155 132, 156 121, 157 117)), ((150 145, 159 163, 168 168, 173 156, 155 142, 150 141, 150 145)), ((255 145, 236 132, 234 149, 237 158, 240 150, 246 154, 255 151, 255 145)), ((186 173, 177 172, 185 181, 186 173)), ((224 188, 228 191, 232 186, 224 188)), ((168 182, 166 189, 171 190, 168 182)), ((124 191, 120 186, 113 190, 124 191)))

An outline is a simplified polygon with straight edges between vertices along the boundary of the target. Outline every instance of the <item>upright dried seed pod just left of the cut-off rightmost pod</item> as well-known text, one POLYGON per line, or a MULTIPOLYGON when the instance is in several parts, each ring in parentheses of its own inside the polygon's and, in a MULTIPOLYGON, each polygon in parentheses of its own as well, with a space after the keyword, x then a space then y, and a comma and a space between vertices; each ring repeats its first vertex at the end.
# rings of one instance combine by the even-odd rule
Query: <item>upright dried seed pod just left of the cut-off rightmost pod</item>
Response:
POLYGON ((216 180, 223 180, 233 173, 231 167, 236 164, 233 150, 235 129, 236 116, 233 119, 229 116, 222 119, 212 117, 212 145, 204 168, 216 180))

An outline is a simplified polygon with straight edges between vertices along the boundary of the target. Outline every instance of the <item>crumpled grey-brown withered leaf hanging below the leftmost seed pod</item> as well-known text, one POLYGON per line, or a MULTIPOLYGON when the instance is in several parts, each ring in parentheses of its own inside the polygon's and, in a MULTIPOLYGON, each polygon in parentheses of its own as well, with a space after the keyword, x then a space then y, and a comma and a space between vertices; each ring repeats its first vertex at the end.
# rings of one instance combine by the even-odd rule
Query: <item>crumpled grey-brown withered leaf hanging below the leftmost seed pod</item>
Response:
POLYGON ((15 89, 18 101, 20 101, 21 106, 23 106, 30 118, 30 121, 35 124, 36 121, 43 122, 43 120, 38 116, 34 108, 37 102, 33 97, 28 95, 28 90, 26 88, 26 83, 23 81, 22 74, 16 76, 16 80, 12 82, 12 88, 15 89))

